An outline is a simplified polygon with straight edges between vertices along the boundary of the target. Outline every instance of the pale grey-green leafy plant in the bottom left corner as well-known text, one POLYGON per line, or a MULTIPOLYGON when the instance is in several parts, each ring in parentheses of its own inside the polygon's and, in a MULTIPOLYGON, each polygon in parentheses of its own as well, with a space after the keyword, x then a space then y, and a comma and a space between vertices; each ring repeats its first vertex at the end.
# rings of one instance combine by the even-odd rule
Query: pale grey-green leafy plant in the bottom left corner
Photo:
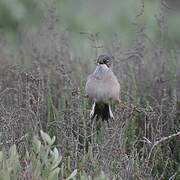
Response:
MULTIPOLYGON (((22 157, 23 160, 20 160, 16 145, 12 145, 8 153, 3 150, 0 151, 0 179, 59 179, 60 173, 63 173, 63 167, 60 166, 62 156, 56 147, 52 147, 56 138, 55 136, 51 138, 42 130, 40 131, 40 138, 38 136, 33 138, 31 150, 26 152, 25 157, 22 157)), ((66 180, 74 178, 76 174, 77 169, 66 180)))

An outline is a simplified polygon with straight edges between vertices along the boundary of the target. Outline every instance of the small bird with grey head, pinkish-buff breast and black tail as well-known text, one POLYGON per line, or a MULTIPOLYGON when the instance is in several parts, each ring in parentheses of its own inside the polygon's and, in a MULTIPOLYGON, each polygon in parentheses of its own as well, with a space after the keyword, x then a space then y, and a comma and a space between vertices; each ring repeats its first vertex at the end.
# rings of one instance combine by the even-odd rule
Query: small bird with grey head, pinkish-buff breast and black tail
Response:
POLYGON ((112 71, 113 56, 100 55, 97 59, 95 71, 90 74, 86 82, 86 95, 93 100, 90 117, 101 118, 108 122, 114 119, 110 101, 120 103, 120 84, 112 71))

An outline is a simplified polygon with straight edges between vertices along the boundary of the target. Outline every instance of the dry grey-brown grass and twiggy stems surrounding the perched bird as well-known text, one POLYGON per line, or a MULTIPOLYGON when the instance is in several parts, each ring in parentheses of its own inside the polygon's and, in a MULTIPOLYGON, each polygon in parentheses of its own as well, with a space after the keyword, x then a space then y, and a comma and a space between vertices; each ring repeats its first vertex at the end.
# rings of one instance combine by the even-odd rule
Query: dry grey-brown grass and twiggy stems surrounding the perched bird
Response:
POLYGON ((18 58, 31 59, 31 66, 0 67, 1 145, 16 143, 23 153, 31 135, 44 129, 56 135, 64 163, 70 161, 80 173, 95 176, 103 170, 110 179, 180 176, 180 63, 175 50, 163 50, 143 33, 130 49, 114 42, 122 100, 140 112, 114 106, 115 120, 110 127, 100 122, 97 130, 84 97, 89 65, 71 58, 67 36, 41 24, 37 32, 21 32, 21 40, 18 58), (156 144, 171 134, 176 135, 156 144))

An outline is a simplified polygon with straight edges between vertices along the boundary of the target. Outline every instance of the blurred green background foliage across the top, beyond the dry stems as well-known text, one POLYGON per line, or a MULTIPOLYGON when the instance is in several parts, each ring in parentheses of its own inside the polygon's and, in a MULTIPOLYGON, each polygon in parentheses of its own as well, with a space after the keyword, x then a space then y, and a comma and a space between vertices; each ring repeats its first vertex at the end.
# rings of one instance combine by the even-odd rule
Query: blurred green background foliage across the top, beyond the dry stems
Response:
POLYGON ((152 39, 163 34, 161 43, 166 47, 180 41, 180 11, 175 0, 0 0, 1 33, 10 36, 25 27, 34 29, 52 7, 57 28, 68 32, 78 56, 88 55, 89 41, 82 32, 100 33, 99 44, 106 50, 117 38, 122 47, 128 47, 142 30, 152 39))

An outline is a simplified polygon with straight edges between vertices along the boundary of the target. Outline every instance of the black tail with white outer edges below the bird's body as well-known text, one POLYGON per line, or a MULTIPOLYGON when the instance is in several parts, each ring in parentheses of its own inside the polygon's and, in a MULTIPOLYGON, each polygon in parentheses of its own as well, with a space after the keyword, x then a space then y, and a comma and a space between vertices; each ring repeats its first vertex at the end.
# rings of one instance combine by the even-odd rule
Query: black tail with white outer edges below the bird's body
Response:
POLYGON ((97 119, 101 118, 103 121, 105 120, 107 122, 108 119, 114 119, 111 107, 107 103, 94 102, 90 116, 92 119, 96 117, 97 119))

